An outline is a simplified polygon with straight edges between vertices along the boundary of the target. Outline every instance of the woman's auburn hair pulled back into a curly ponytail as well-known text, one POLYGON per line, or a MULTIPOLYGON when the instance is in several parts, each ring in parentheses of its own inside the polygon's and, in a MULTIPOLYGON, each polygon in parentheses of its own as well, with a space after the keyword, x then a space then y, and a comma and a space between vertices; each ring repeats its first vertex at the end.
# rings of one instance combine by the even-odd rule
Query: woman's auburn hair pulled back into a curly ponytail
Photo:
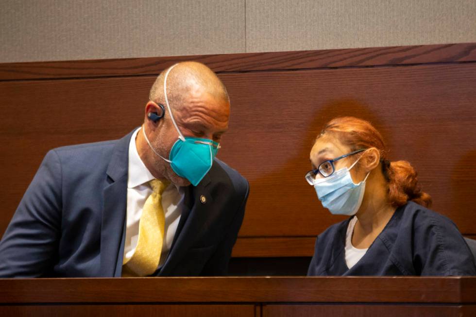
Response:
POLYGON ((324 134, 335 135, 352 151, 375 148, 380 152, 382 173, 388 184, 388 198, 394 207, 400 207, 408 200, 429 207, 431 197, 422 191, 417 172, 407 161, 390 162, 382 135, 370 122, 356 117, 337 117, 329 121, 316 140, 324 134))

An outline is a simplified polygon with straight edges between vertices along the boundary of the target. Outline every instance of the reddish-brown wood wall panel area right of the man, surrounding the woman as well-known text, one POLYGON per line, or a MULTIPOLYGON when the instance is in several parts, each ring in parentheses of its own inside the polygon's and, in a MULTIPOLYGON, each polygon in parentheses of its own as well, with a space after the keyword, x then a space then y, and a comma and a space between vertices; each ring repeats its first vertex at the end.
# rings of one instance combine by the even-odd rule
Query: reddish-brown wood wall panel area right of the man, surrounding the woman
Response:
POLYGON ((316 235, 343 219, 321 206, 304 174, 323 124, 346 115, 373 122, 391 160, 419 171, 434 209, 475 233, 476 64, 222 78, 233 105, 220 155, 251 185, 242 236, 316 235))

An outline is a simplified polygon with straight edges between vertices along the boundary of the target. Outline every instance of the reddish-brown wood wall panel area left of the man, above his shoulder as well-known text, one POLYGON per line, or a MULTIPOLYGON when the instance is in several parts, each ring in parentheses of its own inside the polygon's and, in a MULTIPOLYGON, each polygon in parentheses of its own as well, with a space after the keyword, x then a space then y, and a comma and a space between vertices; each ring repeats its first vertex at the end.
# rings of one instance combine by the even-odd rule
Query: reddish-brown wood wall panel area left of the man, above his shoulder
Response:
POLYGON ((0 82, 0 232, 46 152, 116 139, 143 120, 149 78, 0 82), (6 185, 8 184, 8 185, 6 185))

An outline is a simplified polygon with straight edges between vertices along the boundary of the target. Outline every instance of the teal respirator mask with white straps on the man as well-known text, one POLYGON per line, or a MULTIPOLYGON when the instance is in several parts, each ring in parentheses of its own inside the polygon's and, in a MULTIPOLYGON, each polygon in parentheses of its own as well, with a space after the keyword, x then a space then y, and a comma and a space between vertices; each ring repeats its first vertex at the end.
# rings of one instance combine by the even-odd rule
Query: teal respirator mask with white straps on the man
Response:
POLYGON ((170 67, 165 74, 164 78, 164 96, 167 109, 169 109, 170 118, 172 119, 173 125, 179 134, 179 138, 172 146, 170 150, 169 159, 162 157, 157 151, 154 150, 147 135, 145 134, 144 127, 142 127, 142 132, 144 137, 149 144, 149 147, 153 150, 155 154, 160 156, 162 159, 170 163, 172 170, 180 177, 186 178, 192 185, 198 185, 206 173, 210 170, 213 164, 213 159, 217 155, 220 144, 218 142, 198 138, 198 137, 184 137, 180 132, 175 119, 172 115, 172 110, 170 109, 169 100, 167 99, 167 77, 169 76, 170 70, 175 67, 177 64, 170 67))

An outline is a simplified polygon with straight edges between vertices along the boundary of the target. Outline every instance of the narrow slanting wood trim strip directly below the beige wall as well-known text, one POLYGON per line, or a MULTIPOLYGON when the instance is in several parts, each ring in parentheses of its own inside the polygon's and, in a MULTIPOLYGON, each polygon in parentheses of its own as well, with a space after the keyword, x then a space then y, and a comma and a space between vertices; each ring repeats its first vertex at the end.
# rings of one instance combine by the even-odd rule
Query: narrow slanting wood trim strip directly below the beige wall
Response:
POLYGON ((163 69, 187 60, 202 62, 216 72, 474 62, 476 44, 3 63, 0 64, 0 81, 157 75, 163 69))

